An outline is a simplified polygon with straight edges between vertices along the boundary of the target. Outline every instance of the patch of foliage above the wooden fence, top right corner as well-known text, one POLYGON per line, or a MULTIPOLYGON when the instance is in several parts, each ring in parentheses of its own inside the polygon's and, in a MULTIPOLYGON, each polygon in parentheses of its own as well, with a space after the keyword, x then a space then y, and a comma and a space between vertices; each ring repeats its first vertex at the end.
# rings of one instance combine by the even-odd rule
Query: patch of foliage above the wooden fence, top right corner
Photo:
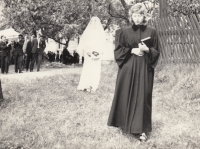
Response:
POLYGON ((199 0, 168 0, 168 12, 171 16, 190 15, 200 13, 199 0))

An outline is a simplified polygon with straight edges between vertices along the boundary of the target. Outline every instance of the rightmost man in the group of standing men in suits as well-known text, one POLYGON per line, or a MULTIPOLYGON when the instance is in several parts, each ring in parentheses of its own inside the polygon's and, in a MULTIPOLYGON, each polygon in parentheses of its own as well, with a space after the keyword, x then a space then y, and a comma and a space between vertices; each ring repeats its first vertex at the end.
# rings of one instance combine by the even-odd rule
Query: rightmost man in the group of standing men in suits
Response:
POLYGON ((40 71, 40 65, 42 62, 42 56, 44 49, 46 48, 45 38, 38 34, 38 62, 37 62, 37 71, 40 71))

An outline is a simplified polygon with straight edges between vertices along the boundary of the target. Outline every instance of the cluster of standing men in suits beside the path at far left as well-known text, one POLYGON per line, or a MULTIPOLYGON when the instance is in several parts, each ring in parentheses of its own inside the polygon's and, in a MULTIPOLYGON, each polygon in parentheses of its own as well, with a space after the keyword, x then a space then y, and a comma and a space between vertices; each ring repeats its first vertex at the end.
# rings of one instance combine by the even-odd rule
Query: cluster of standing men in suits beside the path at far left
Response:
POLYGON ((8 41, 4 35, 1 36, 1 73, 9 72, 11 57, 13 56, 15 72, 22 72, 22 64, 25 58, 26 71, 33 72, 34 64, 37 63, 37 71, 40 71, 42 55, 46 48, 45 38, 41 34, 20 34, 17 41, 8 41))

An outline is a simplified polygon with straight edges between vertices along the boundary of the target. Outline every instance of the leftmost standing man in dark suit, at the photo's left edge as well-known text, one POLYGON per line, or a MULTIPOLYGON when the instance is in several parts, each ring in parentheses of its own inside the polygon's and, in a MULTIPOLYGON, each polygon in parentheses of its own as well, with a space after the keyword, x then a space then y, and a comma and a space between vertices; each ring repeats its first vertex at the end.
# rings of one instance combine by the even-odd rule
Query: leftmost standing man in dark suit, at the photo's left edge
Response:
POLYGON ((5 36, 1 36, 0 48, 1 48, 1 73, 7 74, 9 68, 10 43, 7 42, 5 36))

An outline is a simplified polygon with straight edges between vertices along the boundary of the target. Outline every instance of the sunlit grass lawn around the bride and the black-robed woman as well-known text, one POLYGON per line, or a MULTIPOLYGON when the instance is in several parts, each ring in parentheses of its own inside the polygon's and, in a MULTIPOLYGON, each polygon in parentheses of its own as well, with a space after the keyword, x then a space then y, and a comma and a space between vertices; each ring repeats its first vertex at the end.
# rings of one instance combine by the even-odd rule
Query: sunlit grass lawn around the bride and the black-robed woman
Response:
MULTIPOLYGON (((71 68, 73 69, 73 68, 71 68)), ((80 74, 2 79, 0 149, 198 149, 200 70, 159 65, 148 142, 108 127, 117 66, 102 66, 96 93, 77 91, 80 74)))

